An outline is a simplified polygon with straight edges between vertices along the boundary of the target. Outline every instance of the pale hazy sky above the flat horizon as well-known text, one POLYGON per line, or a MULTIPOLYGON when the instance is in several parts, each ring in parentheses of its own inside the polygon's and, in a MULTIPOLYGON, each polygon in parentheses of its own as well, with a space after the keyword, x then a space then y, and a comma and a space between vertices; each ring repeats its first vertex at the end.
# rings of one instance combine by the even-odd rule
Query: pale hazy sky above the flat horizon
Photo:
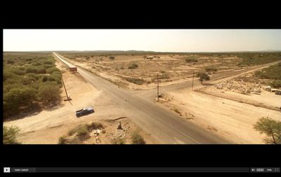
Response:
POLYGON ((4 29, 4 51, 281 50, 281 29, 4 29))

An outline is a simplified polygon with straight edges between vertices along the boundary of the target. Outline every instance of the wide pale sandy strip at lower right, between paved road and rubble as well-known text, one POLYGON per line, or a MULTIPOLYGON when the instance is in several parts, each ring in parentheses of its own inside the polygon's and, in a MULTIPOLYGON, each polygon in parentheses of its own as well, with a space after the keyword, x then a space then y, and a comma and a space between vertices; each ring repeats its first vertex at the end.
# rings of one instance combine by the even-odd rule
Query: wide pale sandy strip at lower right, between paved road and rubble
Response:
POLYGON ((281 121, 280 111, 190 90, 170 92, 160 102, 187 121, 195 122, 233 143, 264 143, 265 136, 253 129, 254 123, 262 117, 281 121))

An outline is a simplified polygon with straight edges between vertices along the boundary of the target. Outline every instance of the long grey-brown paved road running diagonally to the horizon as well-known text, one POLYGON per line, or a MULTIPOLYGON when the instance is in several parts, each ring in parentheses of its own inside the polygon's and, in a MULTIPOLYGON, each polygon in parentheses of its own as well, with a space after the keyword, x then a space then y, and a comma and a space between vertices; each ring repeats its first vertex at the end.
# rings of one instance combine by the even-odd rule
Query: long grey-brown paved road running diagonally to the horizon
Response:
MULTIPOLYGON (((65 57, 60 56, 55 52, 53 54, 68 66, 73 66, 65 61, 65 57)), ((142 97, 140 97, 137 91, 118 88, 117 85, 110 83, 110 81, 100 78, 89 71, 79 67, 77 67, 77 69, 81 76, 97 89, 103 90, 112 101, 115 101, 119 106, 122 106, 122 108, 127 108, 130 112, 133 112, 134 114, 130 116, 130 118, 133 119, 133 122, 136 122, 139 127, 148 134, 151 134, 160 143, 230 143, 192 122, 183 120, 183 118, 176 115, 176 113, 173 113, 162 106, 158 106, 151 99, 144 99, 143 95, 145 94, 141 94, 142 97)), ((187 85, 190 86, 191 84, 188 83, 187 85)), ((152 92, 153 91, 148 90, 147 94, 149 97, 151 97, 152 92)))

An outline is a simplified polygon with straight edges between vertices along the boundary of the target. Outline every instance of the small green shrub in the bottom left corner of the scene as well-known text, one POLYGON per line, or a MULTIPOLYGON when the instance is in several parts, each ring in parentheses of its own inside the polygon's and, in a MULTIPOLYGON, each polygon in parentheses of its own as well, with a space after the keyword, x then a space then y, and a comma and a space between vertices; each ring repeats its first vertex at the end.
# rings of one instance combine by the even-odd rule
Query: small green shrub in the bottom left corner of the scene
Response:
POLYGON ((3 127, 3 143, 4 144, 20 144, 17 141, 17 135, 20 132, 19 127, 3 127))

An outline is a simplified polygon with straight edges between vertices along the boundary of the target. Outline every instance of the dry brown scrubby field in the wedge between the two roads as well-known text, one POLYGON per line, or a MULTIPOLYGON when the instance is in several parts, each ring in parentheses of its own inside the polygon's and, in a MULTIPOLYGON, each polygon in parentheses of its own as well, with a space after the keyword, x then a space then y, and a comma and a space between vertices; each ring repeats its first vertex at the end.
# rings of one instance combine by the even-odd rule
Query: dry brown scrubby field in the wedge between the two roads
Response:
MULTIPOLYGON (((71 56, 71 54, 65 53, 61 53, 61 55, 65 57, 71 56)), ((117 83, 120 87, 131 90, 150 90, 155 88, 157 74, 159 74, 160 86, 191 80, 193 71, 204 70, 207 66, 216 66, 218 71, 213 73, 213 75, 220 76, 222 73, 227 74, 240 69, 236 64, 241 60, 237 57, 228 57, 226 59, 226 57, 197 56, 199 60, 193 64, 185 62, 185 57, 192 57, 191 55, 155 55, 155 58, 152 60, 145 59, 143 55, 117 55, 114 60, 104 56, 93 56, 86 59, 85 56, 81 57, 83 55, 85 54, 81 53, 79 57, 68 59, 67 61, 110 80, 112 83, 117 83), (100 61, 101 58, 103 60, 100 61), (138 64, 138 68, 128 69, 128 66, 133 63, 138 64), (124 69, 120 69, 122 66, 124 69), (221 68, 222 66, 225 68, 221 68), (165 71, 168 77, 161 78, 161 71, 165 71), (128 82, 123 77, 141 78, 145 80, 145 83, 136 85, 128 82)), ((247 68, 244 67, 244 69, 247 68)), ((244 69, 240 70, 243 71, 244 69)))

